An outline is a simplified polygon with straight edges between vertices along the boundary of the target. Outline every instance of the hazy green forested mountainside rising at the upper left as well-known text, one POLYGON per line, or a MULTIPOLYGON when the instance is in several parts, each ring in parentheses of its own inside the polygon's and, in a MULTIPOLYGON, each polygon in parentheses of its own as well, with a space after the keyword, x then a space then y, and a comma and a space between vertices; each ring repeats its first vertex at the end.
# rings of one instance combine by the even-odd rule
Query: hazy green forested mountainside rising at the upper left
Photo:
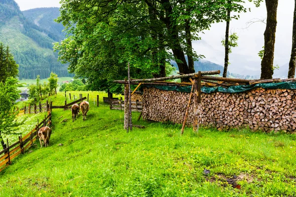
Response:
POLYGON ((53 21, 54 14, 48 14, 50 9, 56 14, 56 8, 43 9, 47 10, 43 17, 38 15, 39 9, 27 10, 23 14, 14 0, 0 0, 0 42, 9 46, 19 64, 20 79, 35 79, 38 74, 40 78, 47 78, 51 71, 60 77, 73 76, 67 65, 57 61, 58 55, 52 50, 52 43, 60 41, 63 34, 61 31, 57 33, 58 26, 45 28, 46 24, 51 26, 49 21, 53 21), (40 20, 35 20, 34 16, 39 16, 40 20))

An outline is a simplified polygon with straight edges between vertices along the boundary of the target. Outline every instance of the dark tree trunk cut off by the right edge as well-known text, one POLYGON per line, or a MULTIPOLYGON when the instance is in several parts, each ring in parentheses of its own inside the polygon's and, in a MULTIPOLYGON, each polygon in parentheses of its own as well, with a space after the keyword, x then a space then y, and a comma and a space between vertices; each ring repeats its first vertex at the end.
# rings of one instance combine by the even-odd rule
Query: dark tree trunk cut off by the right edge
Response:
POLYGON ((294 78, 296 67, 296 0, 294 7, 294 19, 293 19, 293 35, 292 35, 292 51, 289 62, 288 78, 294 78))

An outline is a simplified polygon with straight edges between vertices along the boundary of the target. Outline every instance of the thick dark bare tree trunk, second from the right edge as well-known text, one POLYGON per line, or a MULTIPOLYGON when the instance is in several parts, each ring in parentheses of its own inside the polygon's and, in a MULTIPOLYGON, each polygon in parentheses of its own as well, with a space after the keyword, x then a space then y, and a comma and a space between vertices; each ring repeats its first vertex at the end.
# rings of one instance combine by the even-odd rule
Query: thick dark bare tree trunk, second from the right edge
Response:
POLYGON ((267 19, 264 32, 264 55, 261 61, 261 79, 272 79, 278 0, 265 0, 267 19))

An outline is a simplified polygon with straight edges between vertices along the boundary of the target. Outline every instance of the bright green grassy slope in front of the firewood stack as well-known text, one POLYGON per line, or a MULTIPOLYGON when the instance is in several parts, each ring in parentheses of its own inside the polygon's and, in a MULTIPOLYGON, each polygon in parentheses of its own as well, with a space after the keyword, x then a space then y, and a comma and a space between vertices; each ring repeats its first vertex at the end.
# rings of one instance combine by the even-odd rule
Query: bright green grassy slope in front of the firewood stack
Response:
POLYGON ((146 129, 126 133, 123 111, 102 103, 107 94, 88 93, 100 106, 90 102, 87 120, 74 123, 70 110, 54 109, 50 146, 36 142, 0 172, 0 197, 296 196, 295 134, 186 128, 182 136, 180 125, 137 122, 139 113, 133 122, 146 129), (227 183, 233 175, 241 189, 227 183))

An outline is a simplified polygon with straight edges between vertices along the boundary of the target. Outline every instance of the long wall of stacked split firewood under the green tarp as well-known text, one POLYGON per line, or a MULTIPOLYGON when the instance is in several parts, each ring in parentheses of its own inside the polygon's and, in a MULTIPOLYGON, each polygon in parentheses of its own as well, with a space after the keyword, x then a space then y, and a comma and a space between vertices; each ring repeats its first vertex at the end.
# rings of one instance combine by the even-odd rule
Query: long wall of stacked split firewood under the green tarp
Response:
MULTIPOLYGON (((249 127, 256 131, 296 130, 296 90, 256 88, 243 93, 201 95, 199 123, 218 130, 249 127)), ((143 119, 182 124, 189 93, 144 88, 143 119)), ((193 104, 187 124, 193 123, 193 104)))

